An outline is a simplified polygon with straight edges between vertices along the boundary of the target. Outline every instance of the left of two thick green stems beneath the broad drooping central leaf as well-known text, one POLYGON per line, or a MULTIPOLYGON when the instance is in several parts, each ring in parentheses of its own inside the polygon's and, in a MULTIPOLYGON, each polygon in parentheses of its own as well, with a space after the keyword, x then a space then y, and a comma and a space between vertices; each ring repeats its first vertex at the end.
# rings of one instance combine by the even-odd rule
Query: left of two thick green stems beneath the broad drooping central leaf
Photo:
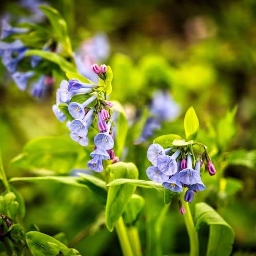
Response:
POLYGON ((129 237, 125 228, 125 225, 123 223, 123 218, 120 217, 117 221, 116 225, 116 232, 117 236, 121 245, 121 249, 124 256, 133 256, 133 250, 129 241, 129 237))

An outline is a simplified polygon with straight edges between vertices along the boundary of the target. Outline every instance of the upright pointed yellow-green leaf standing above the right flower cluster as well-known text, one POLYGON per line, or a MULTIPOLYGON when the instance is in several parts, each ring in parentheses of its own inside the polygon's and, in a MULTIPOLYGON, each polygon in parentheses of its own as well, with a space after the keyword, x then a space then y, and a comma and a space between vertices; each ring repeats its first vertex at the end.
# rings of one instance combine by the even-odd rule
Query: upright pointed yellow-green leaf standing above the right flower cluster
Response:
POLYGON ((193 106, 190 106, 190 108, 186 112, 186 115, 184 118, 184 130, 185 130, 186 140, 196 139, 197 133, 199 130, 199 121, 193 106))

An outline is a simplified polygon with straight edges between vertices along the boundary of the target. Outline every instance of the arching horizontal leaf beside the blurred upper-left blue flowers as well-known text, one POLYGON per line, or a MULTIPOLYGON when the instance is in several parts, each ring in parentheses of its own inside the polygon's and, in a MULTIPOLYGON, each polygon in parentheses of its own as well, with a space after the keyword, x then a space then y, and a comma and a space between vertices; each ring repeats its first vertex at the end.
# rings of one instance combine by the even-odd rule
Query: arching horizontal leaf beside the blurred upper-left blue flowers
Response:
POLYGON ((61 57, 60 55, 54 53, 54 52, 46 52, 42 50, 27 50, 26 56, 40 56, 44 59, 47 59, 59 66, 59 68, 64 72, 76 72, 76 68, 72 63, 70 63, 65 58, 61 57))

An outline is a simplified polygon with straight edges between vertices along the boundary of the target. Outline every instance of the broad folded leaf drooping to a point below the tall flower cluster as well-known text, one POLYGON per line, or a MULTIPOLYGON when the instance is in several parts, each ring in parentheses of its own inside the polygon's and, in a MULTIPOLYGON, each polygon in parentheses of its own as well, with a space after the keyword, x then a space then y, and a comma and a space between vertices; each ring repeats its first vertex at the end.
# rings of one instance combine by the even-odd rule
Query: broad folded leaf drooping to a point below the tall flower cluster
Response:
MULTIPOLYGON (((106 168, 106 172, 109 173, 110 180, 118 178, 130 178, 138 179, 138 169, 134 163, 118 162, 110 164, 106 168)), ((121 184, 116 186, 110 186, 108 192, 108 198, 106 200, 106 227, 112 231, 115 223, 123 214, 126 204, 131 199, 135 185, 121 184)))

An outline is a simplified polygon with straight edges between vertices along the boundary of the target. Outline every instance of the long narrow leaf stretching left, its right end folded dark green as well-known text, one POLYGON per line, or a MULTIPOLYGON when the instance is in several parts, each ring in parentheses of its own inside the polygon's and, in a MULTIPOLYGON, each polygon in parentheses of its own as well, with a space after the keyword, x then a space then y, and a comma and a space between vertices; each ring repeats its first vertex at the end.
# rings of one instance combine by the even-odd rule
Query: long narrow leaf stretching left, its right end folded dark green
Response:
POLYGON ((92 198, 99 204, 104 205, 106 202, 106 187, 105 183, 91 175, 80 174, 79 177, 65 177, 65 176, 44 176, 44 177, 20 177, 11 178, 10 182, 27 181, 27 182, 58 182, 76 187, 86 187, 92 198))

